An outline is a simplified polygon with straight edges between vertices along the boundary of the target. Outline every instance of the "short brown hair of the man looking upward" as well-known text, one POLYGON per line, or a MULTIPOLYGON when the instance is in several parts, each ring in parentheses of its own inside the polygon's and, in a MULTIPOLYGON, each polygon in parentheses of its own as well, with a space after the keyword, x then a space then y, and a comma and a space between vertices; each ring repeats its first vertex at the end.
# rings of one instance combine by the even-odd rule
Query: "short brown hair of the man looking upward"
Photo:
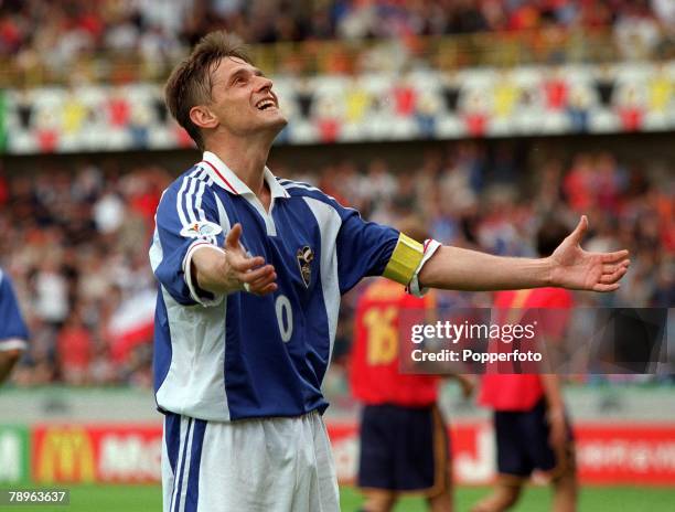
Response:
POLYGON ((188 58, 173 68, 164 87, 169 111, 201 150, 204 149, 204 139, 200 128, 190 119, 190 110, 211 102, 213 72, 226 57, 251 64, 240 39, 224 30, 211 32, 200 40, 188 58))

